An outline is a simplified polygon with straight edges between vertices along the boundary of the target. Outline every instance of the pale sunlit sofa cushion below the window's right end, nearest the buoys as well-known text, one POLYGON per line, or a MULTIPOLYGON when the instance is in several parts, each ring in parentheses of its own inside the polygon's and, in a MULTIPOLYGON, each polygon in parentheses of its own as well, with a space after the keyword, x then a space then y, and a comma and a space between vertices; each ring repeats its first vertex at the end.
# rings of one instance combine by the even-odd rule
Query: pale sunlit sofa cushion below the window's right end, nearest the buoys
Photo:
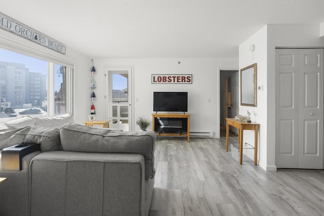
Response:
POLYGON ((74 123, 73 115, 71 113, 56 115, 52 117, 33 117, 33 120, 34 125, 48 128, 60 128, 66 123, 74 123))

